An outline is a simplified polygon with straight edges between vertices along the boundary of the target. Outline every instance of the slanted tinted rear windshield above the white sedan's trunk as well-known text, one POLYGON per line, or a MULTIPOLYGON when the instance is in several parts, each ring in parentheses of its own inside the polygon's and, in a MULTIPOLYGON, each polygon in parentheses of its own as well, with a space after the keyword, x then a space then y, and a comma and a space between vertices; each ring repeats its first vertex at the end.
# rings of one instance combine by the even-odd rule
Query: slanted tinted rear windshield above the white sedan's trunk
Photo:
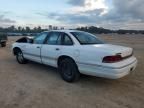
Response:
POLYGON ((82 45, 86 44, 104 44, 103 41, 98 39, 95 35, 86 32, 71 32, 73 36, 80 42, 82 45))

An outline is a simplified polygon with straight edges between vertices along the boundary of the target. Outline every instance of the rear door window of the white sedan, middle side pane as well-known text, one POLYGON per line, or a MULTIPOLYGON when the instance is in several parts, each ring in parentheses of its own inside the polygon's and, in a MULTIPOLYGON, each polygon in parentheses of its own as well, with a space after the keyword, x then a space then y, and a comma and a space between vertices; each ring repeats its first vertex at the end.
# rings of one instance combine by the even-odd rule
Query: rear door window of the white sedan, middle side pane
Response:
POLYGON ((60 33, 52 32, 47 40, 49 45, 59 45, 61 43, 60 33))

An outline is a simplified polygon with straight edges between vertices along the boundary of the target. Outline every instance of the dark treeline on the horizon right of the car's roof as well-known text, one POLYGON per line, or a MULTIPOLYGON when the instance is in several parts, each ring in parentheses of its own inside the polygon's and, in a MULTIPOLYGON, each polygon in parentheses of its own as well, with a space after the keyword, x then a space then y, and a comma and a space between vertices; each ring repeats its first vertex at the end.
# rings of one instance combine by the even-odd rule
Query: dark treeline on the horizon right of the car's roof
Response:
POLYGON ((108 34, 108 33, 118 33, 118 34, 144 34, 144 30, 110 30, 105 29, 102 27, 79 27, 77 30, 86 31, 90 33, 96 33, 96 34, 108 34))

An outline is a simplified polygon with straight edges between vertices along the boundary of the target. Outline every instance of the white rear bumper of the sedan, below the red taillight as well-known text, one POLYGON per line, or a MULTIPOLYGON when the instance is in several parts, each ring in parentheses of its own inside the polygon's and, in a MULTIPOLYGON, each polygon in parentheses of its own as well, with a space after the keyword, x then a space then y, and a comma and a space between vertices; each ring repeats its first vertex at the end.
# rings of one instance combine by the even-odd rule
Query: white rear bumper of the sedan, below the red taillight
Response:
POLYGON ((137 59, 133 60, 131 63, 119 67, 119 68, 108 68, 103 66, 85 65, 78 64, 79 71, 82 74, 104 77, 109 79, 118 79, 128 75, 137 66, 137 59))

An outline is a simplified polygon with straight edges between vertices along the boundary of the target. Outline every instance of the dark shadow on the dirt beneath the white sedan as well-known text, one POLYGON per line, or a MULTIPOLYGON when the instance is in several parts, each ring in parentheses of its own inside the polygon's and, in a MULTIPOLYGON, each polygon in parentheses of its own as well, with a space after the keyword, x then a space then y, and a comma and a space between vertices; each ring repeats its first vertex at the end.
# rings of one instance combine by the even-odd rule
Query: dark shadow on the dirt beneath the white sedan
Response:
MULTIPOLYGON (((62 80, 61 76, 59 75, 58 69, 54 68, 52 66, 48 66, 48 65, 44 65, 44 64, 39 64, 33 61, 29 62, 29 66, 31 68, 35 68, 37 71, 39 70, 39 72, 44 72, 47 73, 48 76, 52 76, 55 78, 58 78, 58 80, 62 80)), ((111 85, 114 83, 119 82, 121 79, 119 80, 112 80, 112 79, 106 79, 106 78, 100 78, 100 77, 95 77, 95 76, 89 76, 89 75, 84 75, 81 74, 80 79, 78 81, 76 81, 74 84, 80 84, 80 83, 84 83, 84 84, 89 84, 89 83, 93 83, 94 85, 111 85)))

